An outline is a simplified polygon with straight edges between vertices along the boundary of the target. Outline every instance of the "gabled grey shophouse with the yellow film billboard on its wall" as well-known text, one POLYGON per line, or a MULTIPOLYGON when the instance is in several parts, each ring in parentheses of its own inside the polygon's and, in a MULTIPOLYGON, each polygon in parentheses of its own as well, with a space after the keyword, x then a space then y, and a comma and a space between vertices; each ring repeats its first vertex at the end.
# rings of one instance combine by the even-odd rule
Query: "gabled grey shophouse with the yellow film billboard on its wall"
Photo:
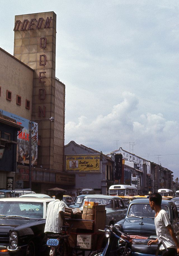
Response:
POLYGON ((91 188, 95 194, 107 195, 114 184, 114 161, 95 149, 70 141, 65 145, 65 170, 75 174, 75 186, 68 192, 76 194, 84 188, 91 188))

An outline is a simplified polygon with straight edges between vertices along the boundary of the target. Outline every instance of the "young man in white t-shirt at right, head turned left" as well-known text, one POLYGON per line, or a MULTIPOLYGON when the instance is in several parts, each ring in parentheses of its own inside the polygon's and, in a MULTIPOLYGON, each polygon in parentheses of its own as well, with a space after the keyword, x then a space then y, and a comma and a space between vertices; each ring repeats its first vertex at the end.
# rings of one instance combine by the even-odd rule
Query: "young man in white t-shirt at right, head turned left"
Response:
MULTIPOLYGON (((162 196, 159 193, 154 193, 149 196, 149 204, 155 214, 155 226, 157 239, 150 240, 148 245, 157 244, 157 242, 163 241, 169 250, 168 256, 175 256, 176 252, 179 253, 179 243, 175 233, 171 227, 169 216, 167 212, 161 209, 162 196), (177 249, 177 250, 176 250, 177 249)), ((160 250, 164 250, 164 246, 161 245, 160 250)))

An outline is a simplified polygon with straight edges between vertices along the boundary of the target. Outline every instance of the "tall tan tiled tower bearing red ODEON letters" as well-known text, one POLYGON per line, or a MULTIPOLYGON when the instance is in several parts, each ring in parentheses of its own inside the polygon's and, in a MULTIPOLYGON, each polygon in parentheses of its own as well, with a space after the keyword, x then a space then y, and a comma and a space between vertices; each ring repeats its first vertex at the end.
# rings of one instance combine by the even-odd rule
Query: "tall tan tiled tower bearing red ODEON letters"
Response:
MULTIPOLYGON (((30 101, 32 119, 50 118, 55 112, 56 14, 17 15, 14 33, 14 56, 35 70, 30 101)), ((43 148, 47 149, 41 153, 41 161, 50 162, 52 167, 53 159, 47 159, 47 156, 53 158, 53 145, 49 140, 54 135, 53 124, 41 122, 39 134, 43 148)))

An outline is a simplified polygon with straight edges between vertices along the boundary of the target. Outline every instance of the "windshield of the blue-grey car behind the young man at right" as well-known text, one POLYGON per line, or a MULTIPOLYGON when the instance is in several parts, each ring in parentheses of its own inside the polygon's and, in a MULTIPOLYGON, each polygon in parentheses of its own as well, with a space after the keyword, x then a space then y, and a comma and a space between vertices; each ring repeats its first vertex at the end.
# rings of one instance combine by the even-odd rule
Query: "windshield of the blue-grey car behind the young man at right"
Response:
MULTIPOLYGON (((166 205, 161 206, 163 210, 165 210, 169 215, 169 208, 166 205)), ((136 216, 136 217, 149 217, 155 218, 155 211, 151 209, 149 203, 134 203, 131 204, 128 210, 128 216, 136 216)))

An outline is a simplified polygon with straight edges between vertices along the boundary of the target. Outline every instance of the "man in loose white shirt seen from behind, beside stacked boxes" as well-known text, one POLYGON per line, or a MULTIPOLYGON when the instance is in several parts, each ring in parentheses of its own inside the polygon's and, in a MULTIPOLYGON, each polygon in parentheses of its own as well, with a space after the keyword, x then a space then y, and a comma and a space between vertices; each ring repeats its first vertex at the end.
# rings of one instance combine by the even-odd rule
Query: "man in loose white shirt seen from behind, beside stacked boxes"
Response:
POLYGON ((68 225, 65 221, 64 212, 68 206, 63 202, 63 192, 55 195, 55 201, 48 204, 44 232, 62 233, 61 227, 68 225))

